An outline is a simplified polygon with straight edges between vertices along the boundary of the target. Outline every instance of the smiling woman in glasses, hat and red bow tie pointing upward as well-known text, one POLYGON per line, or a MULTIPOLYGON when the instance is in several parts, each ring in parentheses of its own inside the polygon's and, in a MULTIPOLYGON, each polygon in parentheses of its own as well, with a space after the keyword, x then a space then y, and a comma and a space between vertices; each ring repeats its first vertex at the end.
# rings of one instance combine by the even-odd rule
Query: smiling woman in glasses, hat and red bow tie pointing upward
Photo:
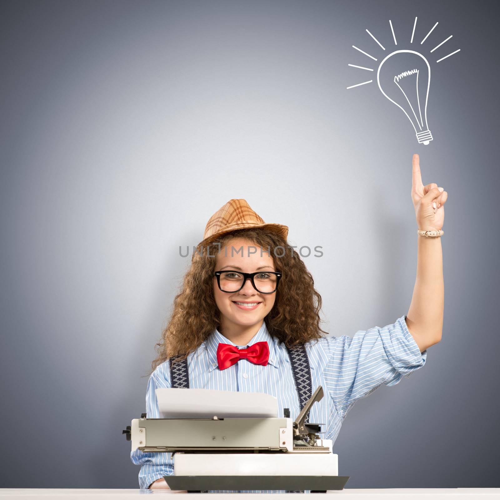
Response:
MULTIPOLYGON (((444 284, 439 236, 447 193, 434 183, 422 184, 417 154, 411 198, 419 233, 408 313, 393 324, 359 330, 352 338, 322 335, 326 332, 320 328, 321 297, 300 256, 286 244, 288 228, 265 224, 243 199, 226 203, 206 224, 157 344, 146 416, 159 417, 154 390, 171 387, 175 370, 182 366, 187 367, 187 376, 179 378, 183 386, 266 392, 277 398, 279 414, 290 408, 293 419, 307 399, 300 389, 303 376, 309 390, 321 385, 325 393, 312 406, 308 421, 325 422, 322 437, 334 441, 357 399, 382 383, 392 386, 403 375, 408 377, 424 365, 426 349, 441 338, 444 284), (300 349, 304 357, 298 365, 303 361, 306 368, 297 374, 294 356, 300 349)), ((182 385, 175 381, 174 386, 182 385)), ((173 473, 170 453, 137 449, 130 456, 141 465, 141 488, 168 488, 163 476, 173 473)))

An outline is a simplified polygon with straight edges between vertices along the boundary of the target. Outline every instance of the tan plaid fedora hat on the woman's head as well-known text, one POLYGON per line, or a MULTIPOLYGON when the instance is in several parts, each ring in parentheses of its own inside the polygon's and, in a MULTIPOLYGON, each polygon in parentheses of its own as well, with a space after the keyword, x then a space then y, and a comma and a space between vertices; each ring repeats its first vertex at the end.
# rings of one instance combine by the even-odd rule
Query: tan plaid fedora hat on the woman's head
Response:
POLYGON ((252 227, 265 227, 277 232, 285 241, 288 235, 288 226, 282 224, 266 224, 263 218, 254 212, 245 199, 230 199, 221 206, 209 219, 203 233, 201 243, 207 244, 215 239, 235 229, 245 229, 252 227))

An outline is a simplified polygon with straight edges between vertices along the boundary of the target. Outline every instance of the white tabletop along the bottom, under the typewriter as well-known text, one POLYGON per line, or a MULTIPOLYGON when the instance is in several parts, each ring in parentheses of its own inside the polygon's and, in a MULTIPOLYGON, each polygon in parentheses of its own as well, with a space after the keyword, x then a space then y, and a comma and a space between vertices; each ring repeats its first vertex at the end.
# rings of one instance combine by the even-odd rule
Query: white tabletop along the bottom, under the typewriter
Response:
MULTIPOLYGON (((138 498, 139 495, 184 495, 204 500, 269 500, 279 495, 304 493, 182 493, 169 489, 77 489, 77 488, 0 488, 2 500, 48 500, 49 498, 70 498, 70 500, 107 500, 117 496, 117 500, 138 498), (205 498, 206 497, 206 498, 205 498), (241 497, 241 498, 239 498, 241 497)), ((305 493, 318 496, 346 497, 347 500, 500 500, 500 488, 390 488, 390 489, 349 489, 327 491, 326 493, 305 493)))

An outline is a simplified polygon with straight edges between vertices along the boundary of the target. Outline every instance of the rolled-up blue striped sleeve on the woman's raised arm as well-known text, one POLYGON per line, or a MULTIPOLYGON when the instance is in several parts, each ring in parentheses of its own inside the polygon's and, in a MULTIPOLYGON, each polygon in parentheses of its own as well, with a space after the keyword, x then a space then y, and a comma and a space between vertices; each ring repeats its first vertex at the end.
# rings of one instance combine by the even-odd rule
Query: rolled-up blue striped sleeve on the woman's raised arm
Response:
POLYGON ((354 336, 327 340, 328 361, 324 378, 341 419, 361 397, 381 384, 392 386, 425 364, 427 350, 420 352, 406 325, 406 316, 383 327, 359 330, 354 336))

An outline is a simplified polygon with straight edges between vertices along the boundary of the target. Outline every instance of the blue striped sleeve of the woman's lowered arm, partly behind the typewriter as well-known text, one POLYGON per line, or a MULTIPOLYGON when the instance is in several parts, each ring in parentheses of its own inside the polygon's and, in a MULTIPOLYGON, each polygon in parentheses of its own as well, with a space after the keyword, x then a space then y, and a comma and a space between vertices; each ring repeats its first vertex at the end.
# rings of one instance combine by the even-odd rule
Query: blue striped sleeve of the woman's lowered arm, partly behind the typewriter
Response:
MULTIPOLYGON (((164 364, 158 366, 149 376, 146 390, 146 418, 159 418, 155 389, 170 387, 169 379, 162 376, 162 374, 168 373, 168 361, 164 364)), ((173 474, 173 459, 170 452, 144 453, 136 448, 130 452, 130 459, 135 465, 141 465, 139 470, 139 487, 141 489, 147 489, 151 483, 164 475, 173 474)))

